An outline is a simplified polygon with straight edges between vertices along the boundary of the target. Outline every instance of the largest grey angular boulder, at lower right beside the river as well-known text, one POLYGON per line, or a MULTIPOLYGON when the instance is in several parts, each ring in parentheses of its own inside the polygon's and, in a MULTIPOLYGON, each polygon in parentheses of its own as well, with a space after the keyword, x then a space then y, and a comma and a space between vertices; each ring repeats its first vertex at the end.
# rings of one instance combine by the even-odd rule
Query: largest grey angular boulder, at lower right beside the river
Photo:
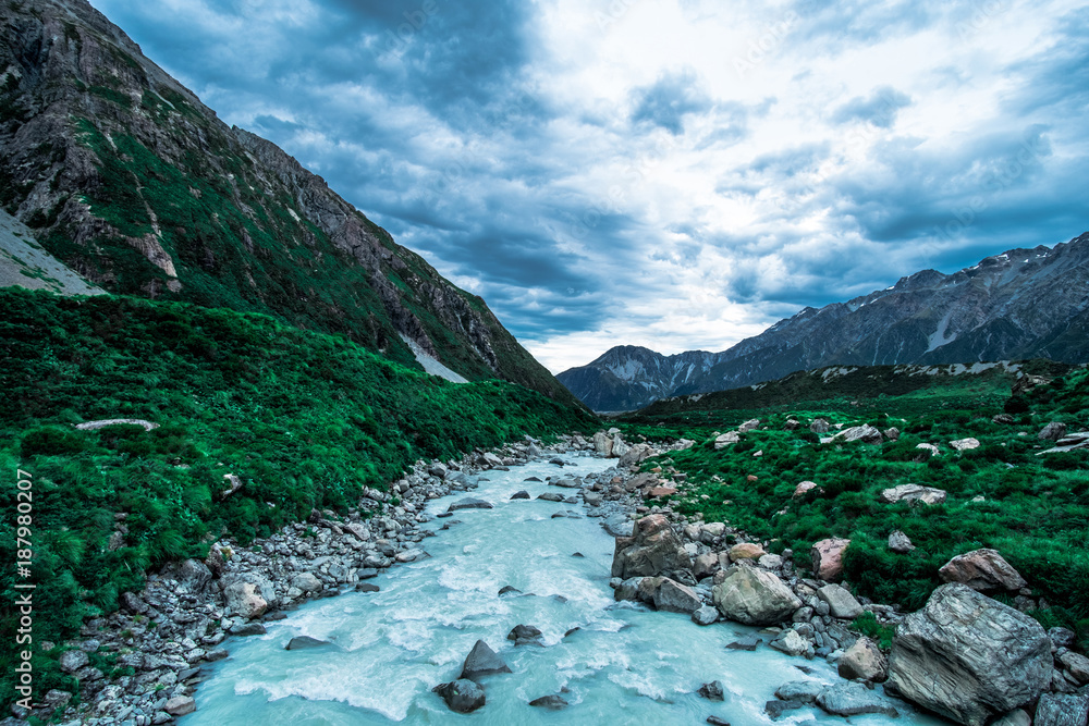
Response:
POLYGON ((962 583, 938 588, 904 619, 889 659, 904 698, 969 726, 1036 700, 1051 673, 1043 628, 962 583))

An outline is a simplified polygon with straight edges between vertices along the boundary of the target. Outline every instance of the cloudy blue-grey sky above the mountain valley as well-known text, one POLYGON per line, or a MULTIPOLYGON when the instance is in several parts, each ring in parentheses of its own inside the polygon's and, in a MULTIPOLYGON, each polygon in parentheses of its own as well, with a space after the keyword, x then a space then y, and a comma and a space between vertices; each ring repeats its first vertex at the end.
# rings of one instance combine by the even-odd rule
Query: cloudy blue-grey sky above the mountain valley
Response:
POLYGON ((91 0, 553 372, 1089 231, 1089 4, 91 0))

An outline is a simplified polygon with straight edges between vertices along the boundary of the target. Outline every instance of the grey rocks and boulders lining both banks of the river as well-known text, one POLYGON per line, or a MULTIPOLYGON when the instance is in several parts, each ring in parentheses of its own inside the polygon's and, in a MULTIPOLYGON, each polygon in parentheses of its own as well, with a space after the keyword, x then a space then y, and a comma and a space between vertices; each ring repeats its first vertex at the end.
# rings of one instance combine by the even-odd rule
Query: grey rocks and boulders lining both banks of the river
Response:
MULTIPOLYGON (((686 445, 690 442, 673 447, 686 445)), ((1003 723, 1027 724, 1035 710, 1038 724, 1084 726, 1085 719, 1049 721, 1052 712, 1076 713, 1089 704, 1084 686, 1089 663, 1068 650, 1068 631, 1044 633, 1035 620, 958 582, 913 615, 856 599, 835 581, 844 541, 818 543, 805 564, 820 579, 803 577, 790 551, 768 554, 767 543, 745 541, 744 533, 721 522, 688 520, 668 506, 645 504, 647 496, 683 487, 684 475, 671 469, 668 457, 664 466, 639 471, 641 462, 662 453, 647 444, 629 445, 615 432, 600 432, 592 440, 565 438, 547 448, 526 441, 461 462, 417 463, 388 493, 364 492, 345 517, 314 512, 309 521, 248 547, 224 536, 206 561, 186 561, 149 577, 143 592, 122 595, 121 612, 87 622, 84 638, 71 643, 62 660, 82 684, 79 704, 70 704, 70 693, 51 691, 34 715, 143 726, 192 713, 208 664, 227 657, 231 643, 264 636, 308 601, 378 590, 372 581, 381 573, 427 557, 425 539, 435 529, 424 525, 440 521, 425 512, 429 501, 464 492, 451 513, 490 507, 468 496, 481 473, 551 459, 555 473, 535 499, 573 507, 553 517, 585 513, 599 519, 616 538, 610 583, 616 601, 685 613, 698 626, 719 624, 700 630, 709 639, 720 637, 718 628, 731 622, 763 628, 725 645, 742 652, 774 649, 799 665, 827 659, 845 679, 783 680, 769 694, 764 717, 813 706, 837 715, 910 712, 903 701, 897 709, 892 696, 958 723, 1003 717, 1003 723), (564 476, 563 457, 575 452, 611 457, 616 468, 564 476), (852 631, 853 619, 864 611, 881 624, 901 626, 891 657, 852 631), (718 635, 711 636, 712 630, 718 635), (115 655, 115 677, 90 665, 91 652, 115 655), (1006 660, 996 660, 995 653, 1007 654, 1006 660)), ((512 495, 528 497, 521 491, 512 495)), ((986 565, 988 557, 958 571, 978 576, 980 562, 986 565)), ((526 642, 536 638, 531 630, 523 636, 526 642)), ((304 639, 296 647, 305 645, 304 639)), ((700 692, 713 699, 722 688, 712 680, 700 692)), ((729 686, 726 690, 729 694, 729 686)), ((25 722, 13 717, 0 723, 25 722)))

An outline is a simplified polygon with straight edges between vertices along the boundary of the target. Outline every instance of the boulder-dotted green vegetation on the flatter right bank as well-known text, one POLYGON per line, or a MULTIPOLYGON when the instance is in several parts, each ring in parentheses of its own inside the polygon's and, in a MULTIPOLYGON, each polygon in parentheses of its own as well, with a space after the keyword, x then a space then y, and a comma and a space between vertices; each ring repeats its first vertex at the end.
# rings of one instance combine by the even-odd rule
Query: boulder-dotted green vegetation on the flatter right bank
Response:
MULTIPOLYGON (((1025 576, 1033 596, 1050 604, 1033 614, 1048 626, 1076 629, 1080 647, 1089 648, 1089 451, 1037 456, 1052 445, 1037 438, 1049 421, 1089 429, 1089 371, 1076 369, 1014 397, 999 379, 949 382, 902 396, 703 411, 703 420, 722 430, 750 418, 761 426, 720 451, 707 427, 689 429, 689 438, 701 443, 672 456, 694 488, 674 496, 674 506, 773 540, 775 551, 800 553, 796 563, 807 562, 817 540, 848 538, 844 563, 851 587, 908 610, 920 607, 941 585, 938 569, 951 557, 993 547, 1025 576), (1013 424, 992 421, 1003 410, 1013 413, 1013 424), (791 416, 803 422, 795 431, 785 430, 791 416), (896 427, 902 433, 880 445, 821 444, 808 429, 818 417, 833 424, 896 427), (967 436, 981 445, 963 453, 950 446, 967 436), (922 443, 940 446, 940 455, 917 448, 922 443), (806 480, 818 489, 795 499, 795 488, 806 480), (934 506, 879 502, 882 490, 906 483, 943 489, 949 499, 934 506), (888 549, 896 529, 916 550, 888 549)), ((687 414, 650 417, 645 409, 628 420, 676 427, 687 414)))

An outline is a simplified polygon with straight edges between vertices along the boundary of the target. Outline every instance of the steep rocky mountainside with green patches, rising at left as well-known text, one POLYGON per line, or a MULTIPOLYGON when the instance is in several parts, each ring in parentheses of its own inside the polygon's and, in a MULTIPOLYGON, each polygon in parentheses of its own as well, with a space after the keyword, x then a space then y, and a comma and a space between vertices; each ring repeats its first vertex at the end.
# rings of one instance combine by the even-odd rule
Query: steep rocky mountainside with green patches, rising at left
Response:
POLYGON ((5 8, 0 208, 69 268, 110 293, 261 312, 575 403, 481 298, 220 121, 85 0, 5 8))

